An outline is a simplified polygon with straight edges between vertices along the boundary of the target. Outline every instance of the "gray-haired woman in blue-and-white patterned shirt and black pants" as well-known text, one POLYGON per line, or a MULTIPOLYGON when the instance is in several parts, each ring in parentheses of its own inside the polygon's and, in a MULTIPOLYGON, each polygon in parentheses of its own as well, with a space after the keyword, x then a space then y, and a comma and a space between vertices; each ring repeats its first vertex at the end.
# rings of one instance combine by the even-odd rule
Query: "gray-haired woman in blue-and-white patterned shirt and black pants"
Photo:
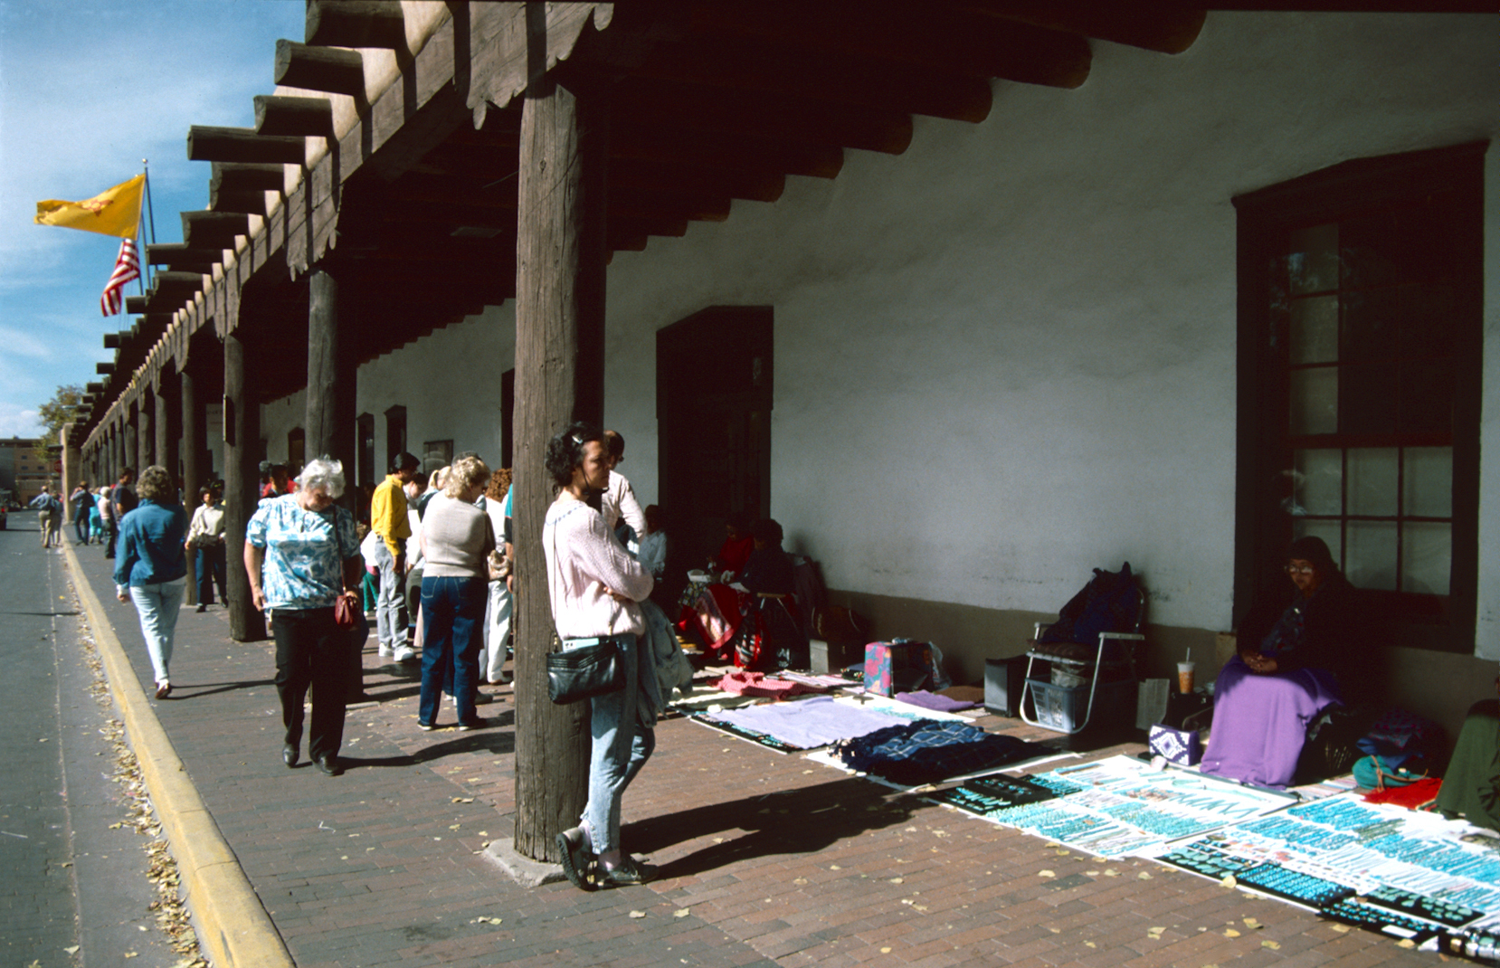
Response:
POLYGON ((244 570, 255 608, 268 612, 276 639, 276 693, 285 728, 282 762, 297 765, 302 702, 312 687, 308 755, 327 776, 339 774, 348 692, 350 633, 333 618, 340 597, 358 608, 360 540, 354 515, 338 507, 344 465, 309 461, 292 494, 261 501, 244 528, 244 570))

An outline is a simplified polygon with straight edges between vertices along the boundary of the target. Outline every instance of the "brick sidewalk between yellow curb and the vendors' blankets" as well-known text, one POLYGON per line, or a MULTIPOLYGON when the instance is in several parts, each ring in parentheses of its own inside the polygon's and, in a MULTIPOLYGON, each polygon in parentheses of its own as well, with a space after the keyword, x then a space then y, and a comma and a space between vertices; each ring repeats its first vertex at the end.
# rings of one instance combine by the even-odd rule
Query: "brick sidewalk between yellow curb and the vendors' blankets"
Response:
MULTIPOLYGON (((80 558, 150 683, 110 563, 80 558)), ((594 894, 524 888, 484 857, 513 828, 508 690, 480 708, 489 729, 422 732, 416 680, 380 662, 372 645, 366 689, 382 702, 350 711, 338 779, 282 765, 270 642, 230 641, 222 608, 183 612, 172 698, 153 701, 303 968, 1440 959, 1160 864, 1052 846, 687 720, 658 726, 656 756, 626 797, 626 845, 662 864, 662 879, 594 894)), ((1014 720, 986 725, 1034 738, 1014 720)))

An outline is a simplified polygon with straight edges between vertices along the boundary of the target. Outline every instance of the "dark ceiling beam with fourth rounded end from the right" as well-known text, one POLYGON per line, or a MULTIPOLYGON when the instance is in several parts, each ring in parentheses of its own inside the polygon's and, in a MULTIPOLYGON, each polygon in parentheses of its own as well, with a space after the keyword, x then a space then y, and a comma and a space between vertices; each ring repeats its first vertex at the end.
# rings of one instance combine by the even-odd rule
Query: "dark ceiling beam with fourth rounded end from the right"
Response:
POLYGON ((672 81, 626 80, 612 125, 669 117, 672 125, 796 144, 842 146, 900 155, 912 143, 912 116, 828 105, 807 98, 747 95, 672 81))

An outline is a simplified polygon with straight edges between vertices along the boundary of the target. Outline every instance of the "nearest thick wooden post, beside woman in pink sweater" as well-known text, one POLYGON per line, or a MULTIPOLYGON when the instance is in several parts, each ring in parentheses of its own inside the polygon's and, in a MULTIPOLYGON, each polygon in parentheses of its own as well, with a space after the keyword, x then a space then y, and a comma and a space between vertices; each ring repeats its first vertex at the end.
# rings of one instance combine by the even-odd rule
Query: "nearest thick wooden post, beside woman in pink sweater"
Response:
POLYGON ((585 704, 552 705, 552 641, 542 522, 552 482, 549 437, 603 416, 604 167, 603 90, 554 78, 526 92, 520 116, 516 240, 516 849, 556 861, 554 837, 586 800, 585 704))

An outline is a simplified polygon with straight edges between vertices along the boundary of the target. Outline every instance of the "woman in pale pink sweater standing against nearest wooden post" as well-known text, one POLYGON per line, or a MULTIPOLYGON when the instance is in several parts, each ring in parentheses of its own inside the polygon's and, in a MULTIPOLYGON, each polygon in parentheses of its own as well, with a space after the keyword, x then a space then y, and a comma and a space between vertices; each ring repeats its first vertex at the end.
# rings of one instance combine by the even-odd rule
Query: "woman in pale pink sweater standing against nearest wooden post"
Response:
POLYGON ((584 890, 596 882, 645 884, 656 876, 656 867, 638 863, 620 846, 621 798, 656 747, 656 732, 642 725, 636 708, 642 672, 656 677, 650 654, 640 648, 646 626, 639 606, 652 581, 590 506, 590 498, 609 486, 603 441, 604 434, 586 423, 548 441, 546 468, 561 492, 542 528, 552 621, 562 648, 573 639, 610 636, 626 666, 624 689, 590 699, 588 804, 582 822, 558 834, 562 870, 584 890), (588 866, 596 858, 590 879, 588 866))

